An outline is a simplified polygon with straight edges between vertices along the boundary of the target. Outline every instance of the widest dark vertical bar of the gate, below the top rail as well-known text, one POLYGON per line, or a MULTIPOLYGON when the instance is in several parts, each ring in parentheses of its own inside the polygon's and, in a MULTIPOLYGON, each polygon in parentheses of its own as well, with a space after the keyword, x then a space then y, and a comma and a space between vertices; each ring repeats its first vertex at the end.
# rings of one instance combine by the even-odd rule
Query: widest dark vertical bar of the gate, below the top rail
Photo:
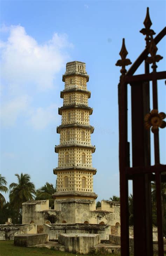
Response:
MULTIPOLYGON (((132 162, 133 167, 145 166, 144 150, 144 102, 142 82, 131 83, 132 104, 132 162)), ((148 235, 150 223, 147 222, 147 204, 150 190, 146 186, 145 174, 133 178, 133 209, 134 209, 134 255, 150 256, 152 249, 148 235), (140 247, 141 243, 141 247, 140 247)))

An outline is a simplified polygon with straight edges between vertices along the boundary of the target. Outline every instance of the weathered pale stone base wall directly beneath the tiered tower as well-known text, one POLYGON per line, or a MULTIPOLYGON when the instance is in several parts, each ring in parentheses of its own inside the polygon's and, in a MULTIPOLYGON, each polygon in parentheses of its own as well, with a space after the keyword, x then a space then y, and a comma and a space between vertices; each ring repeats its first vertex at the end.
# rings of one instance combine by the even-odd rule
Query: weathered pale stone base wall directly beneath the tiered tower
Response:
POLYGON ((85 199, 55 200, 54 210, 49 210, 48 200, 26 202, 23 203, 22 224, 42 225, 49 221, 56 224, 85 222, 115 226, 116 223, 120 223, 120 207, 113 204, 110 209, 113 209, 113 212, 96 210, 95 200, 85 199))

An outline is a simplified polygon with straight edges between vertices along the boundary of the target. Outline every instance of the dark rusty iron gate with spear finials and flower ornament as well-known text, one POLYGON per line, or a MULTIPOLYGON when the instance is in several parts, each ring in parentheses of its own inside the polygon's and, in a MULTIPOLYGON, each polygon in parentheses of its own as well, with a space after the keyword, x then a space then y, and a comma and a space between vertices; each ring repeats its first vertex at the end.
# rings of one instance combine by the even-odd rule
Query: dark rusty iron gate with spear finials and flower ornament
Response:
POLYGON ((121 60, 116 63, 116 66, 122 67, 118 85, 121 256, 129 256, 129 180, 133 182, 134 256, 153 255, 151 181, 155 181, 157 191, 158 255, 164 256, 161 181, 166 182, 166 165, 160 164, 159 128, 165 127, 165 114, 158 112, 157 80, 166 79, 166 72, 157 72, 156 62, 162 57, 157 54, 156 45, 164 38, 166 27, 153 38, 155 33, 151 25, 147 8, 145 28, 140 31, 146 36, 144 51, 126 72, 125 66, 131 61, 126 59, 128 52, 123 39, 119 53, 121 60), (145 73, 133 75, 143 62, 145 73), (153 98, 151 112, 150 82, 153 98), (127 85, 131 86, 132 167, 127 140, 127 85), (151 165, 150 135, 154 136, 154 166, 151 165))

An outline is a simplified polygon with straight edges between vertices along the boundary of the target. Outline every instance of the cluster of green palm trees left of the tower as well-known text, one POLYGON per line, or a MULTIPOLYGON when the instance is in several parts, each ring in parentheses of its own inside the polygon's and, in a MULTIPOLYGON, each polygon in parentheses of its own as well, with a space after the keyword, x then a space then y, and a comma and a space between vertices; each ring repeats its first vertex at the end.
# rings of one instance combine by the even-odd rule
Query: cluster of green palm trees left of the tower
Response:
POLYGON ((53 194, 56 186, 46 182, 46 184, 35 190, 35 185, 30 181, 28 174, 15 174, 17 183, 12 182, 7 188, 6 178, 0 174, 0 224, 5 224, 8 217, 12 218, 13 224, 22 223, 22 203, 31 200, 49 200, 49 206, 54 207, 53 194), (9 192, 9 202, 1 192, 9 192))

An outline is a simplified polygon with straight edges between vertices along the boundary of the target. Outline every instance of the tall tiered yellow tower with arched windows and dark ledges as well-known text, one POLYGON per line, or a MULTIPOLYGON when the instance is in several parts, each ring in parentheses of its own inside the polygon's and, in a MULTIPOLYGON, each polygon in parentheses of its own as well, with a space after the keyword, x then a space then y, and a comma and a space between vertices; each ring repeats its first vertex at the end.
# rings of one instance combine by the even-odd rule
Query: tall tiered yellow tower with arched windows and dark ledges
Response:
POLYGON ((65 88, 61 92, 63 107, 58 109, 62 115, 62 124, 57 127, 60 134, 60 144, 55 146, 58 153, 58 167, 54 169, 57 175, 57 190, 55 199, 96 199, 93 192, 93 175, 96 169, 92 167, 92 153, 95 146, 91 145, 89 115, 93 109, 88 107, 90 91, 87 90, 89 75, 85 63, 68 62, 62 81, 65 88))

